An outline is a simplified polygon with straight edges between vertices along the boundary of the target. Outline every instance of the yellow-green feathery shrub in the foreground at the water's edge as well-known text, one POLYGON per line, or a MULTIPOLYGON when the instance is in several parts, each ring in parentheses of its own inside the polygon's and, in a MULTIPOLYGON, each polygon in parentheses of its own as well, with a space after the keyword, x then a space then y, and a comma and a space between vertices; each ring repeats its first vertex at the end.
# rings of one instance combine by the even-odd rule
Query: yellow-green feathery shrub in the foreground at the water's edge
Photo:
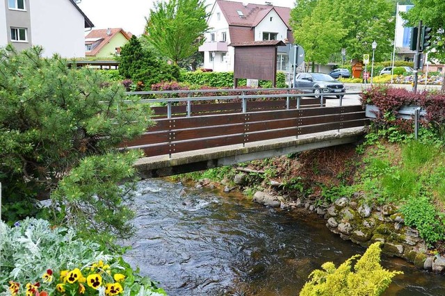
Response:
POLYGON ((338 268, 332 262, 324 263, 321 265, 323 270, 314 270, 309 275, 300 296, 382 295, 392 279, 403 272, 382 268, 380 252, 380 242, 374 242, 357 260, 354 271, 352 264, 359 255, 349 258, 338 268))

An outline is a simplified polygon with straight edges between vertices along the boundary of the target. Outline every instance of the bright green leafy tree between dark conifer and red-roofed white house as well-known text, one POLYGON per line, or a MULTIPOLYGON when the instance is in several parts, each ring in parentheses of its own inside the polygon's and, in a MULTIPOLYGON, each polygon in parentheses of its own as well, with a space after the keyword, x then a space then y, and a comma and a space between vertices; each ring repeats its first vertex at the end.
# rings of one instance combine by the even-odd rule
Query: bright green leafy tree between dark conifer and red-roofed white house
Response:
POLYGON ((148 42, 175 65, 193 56, 204 42, 206 5, 200 0, 158 1, 150 10, 145 31, 148 42))

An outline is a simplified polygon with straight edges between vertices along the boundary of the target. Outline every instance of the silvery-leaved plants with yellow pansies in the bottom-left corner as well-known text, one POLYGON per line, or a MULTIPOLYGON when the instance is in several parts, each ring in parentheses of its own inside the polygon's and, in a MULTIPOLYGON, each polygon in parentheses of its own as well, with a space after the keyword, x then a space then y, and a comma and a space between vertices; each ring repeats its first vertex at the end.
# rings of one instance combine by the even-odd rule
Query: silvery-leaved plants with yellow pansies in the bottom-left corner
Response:
POLYGON ((166 295, 118 254, 46 220, 0 222, 0 249, 0 295, 166 295))

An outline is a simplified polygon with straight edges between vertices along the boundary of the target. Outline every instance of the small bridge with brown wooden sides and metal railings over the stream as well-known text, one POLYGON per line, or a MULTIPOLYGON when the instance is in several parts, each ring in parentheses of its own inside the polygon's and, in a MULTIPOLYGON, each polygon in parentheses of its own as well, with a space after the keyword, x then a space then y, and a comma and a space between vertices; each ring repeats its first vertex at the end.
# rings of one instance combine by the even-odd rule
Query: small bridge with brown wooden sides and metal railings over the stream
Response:
POLYGON ((361 105, 343 106, 344 93, 308 97, 274 88, 127 94, 167 97, 141 100, 152 107, 156 125, 122 144, 145 152, 136 163, 143 178, 353 143, 369 124, 361 105))

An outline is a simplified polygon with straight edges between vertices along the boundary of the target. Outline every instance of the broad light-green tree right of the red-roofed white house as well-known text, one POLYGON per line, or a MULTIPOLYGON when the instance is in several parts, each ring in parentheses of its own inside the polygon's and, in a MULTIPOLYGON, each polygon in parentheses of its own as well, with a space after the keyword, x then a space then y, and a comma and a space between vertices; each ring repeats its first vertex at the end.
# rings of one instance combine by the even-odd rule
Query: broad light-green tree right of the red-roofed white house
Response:
POLYGON ((317 58, 318 63, 339 54, 341 48, 346 48, 348 58, 361 59, 372 51, 374 40, 378 43, 375 60, 382 60, 392 49, 392 10, 392 0, 375 0, 373 5, 366 0, 298 0, 291 11, 291 26, 296 42, 306 52, 313 50, 323 56, 321 60, 317 58), (313 43, 324 40, 330 46, 311 49, 311 40, 313 43))

